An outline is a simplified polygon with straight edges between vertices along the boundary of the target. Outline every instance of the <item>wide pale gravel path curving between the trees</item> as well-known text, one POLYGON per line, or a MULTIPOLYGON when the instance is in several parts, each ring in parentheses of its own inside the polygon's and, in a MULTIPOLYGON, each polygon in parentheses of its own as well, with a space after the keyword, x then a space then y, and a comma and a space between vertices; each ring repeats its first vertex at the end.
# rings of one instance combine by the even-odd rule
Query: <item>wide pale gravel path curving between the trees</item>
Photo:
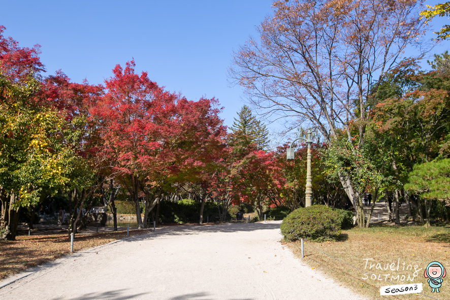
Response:
POLYGON ((158 228, 44 265, 0 299, 361 299, 284 248, 280 223, 158 228))

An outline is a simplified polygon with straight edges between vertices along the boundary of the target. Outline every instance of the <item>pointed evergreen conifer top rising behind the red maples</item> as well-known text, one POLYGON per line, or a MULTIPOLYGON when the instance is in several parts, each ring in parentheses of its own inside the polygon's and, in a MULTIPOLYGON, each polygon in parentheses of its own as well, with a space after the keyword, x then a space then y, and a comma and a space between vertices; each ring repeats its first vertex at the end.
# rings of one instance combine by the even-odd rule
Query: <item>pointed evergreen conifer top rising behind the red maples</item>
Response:
POLYGON ((234 118, 233 126, 231 130, 236 133, 240 131, 242 135, 248 136, 252 142, 256 143, 258 150, 267 148, 269 141, 266 125, 261 121, 256 120, 251 114, 251 109, 244 105, 241 111, 238 113, 239 119, 234 118))

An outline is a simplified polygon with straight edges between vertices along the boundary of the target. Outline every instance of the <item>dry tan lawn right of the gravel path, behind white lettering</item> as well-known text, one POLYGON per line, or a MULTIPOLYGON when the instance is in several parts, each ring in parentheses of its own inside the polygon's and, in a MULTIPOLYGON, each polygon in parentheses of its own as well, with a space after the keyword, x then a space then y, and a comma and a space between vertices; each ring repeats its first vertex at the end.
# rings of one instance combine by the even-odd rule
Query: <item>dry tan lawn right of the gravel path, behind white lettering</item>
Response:
MULTIPOLYGON (((448 273, 443 278, 444 281, 439 289, 439 293, 431 292, 427 279, 424 277, 425 268, 431 261, 439 261, 447 268, 450 266, 449 242, 450 229, 448 226, 434 226, 431 228, 422 226, 353 228, 343 230, 339 241, 336 242, 305 243, 304 252, 306 257, 303 260, 311 268, 320 270, 325 274, 325 277, 334 278, 344 286, 370 299, 386 298, 379 294, 381 286, 408 283, 423 283, 423 294, 437 299, 450 299, 450 275, 448 273), (365 260, 368 258, 373 259, 365 260), (366 261, 368 261, 367 266, 366 261), (371 263, 375 264, 372 269, 370 269, 371 263), (376 263, 380 263, 383 270, 376 269, 376 263), (395 271, 390 270, 392 263, 394 263, 393 269, 395 271), (404 270, 403 263, 405 263, 404 270), (348 264, 362 271, 356 270, 348 264), (398 271, 397 264, 399 264, 398 271), (410 265, 409 268, 408 265, 410 265), (417 276, 411 282, 408 280, 408 275, 412 278, 415 265, 417 265, 416 270, 418 272, 416 272, 417 276), (384 270, 386 266, 388 266, 388 270, 384 270), (419 271, 419 269, 421 270, 419 271), (364 275, 365 272, 368 272, 369 275, 364 280, 363 278, 367 277, 364 275), (370 274, 377 275, 377 278, 371 278, 370 274), (387 280, 393 283, 384 281, 387 274, 390 274, 387 280), (399 279, 393 280, 397 275, 399 275, 399 279), (403 281, 401 281, 402 275, 405 276, 403 281), (382 280, 378 280, 378 278, 382 280)), ((289 243, 288 246, 297 256, 301 257, 300 241, 289 243)), ((450 272, 450 268, 448 271, 450 272)), ((391 295, 389 297, 398 299, 430 299, 421 294, 391 295)))

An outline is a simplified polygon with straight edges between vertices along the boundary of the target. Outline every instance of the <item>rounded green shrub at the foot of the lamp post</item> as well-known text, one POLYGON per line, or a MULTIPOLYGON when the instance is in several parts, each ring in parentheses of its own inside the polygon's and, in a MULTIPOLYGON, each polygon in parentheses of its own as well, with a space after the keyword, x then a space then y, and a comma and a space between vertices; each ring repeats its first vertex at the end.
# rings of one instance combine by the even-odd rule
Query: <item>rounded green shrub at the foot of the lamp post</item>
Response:
POLYGON ((329 241, 340 234, 340 216, 325 205, 299 208, 283 219, 280 229, 286 241, 329 241))

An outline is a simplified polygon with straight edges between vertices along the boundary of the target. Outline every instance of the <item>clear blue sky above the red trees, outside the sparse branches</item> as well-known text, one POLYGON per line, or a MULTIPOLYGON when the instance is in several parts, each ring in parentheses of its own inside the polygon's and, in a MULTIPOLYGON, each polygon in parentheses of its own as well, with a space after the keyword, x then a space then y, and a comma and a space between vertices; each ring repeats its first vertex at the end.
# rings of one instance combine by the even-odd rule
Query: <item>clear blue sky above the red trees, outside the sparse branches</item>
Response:
MULTIPOLYGON (((434 5, 438 2, 427 1, 434 5)), ((233 49, 271 14, 272 0, 17 1, 2 0, 0 24, 22 47, 41 45, 47 74, 99 84, 133 57, 137 71, 190 100, 216 97, 233 124, 242 89, 229 87, 233 49)), ((448 22, 436 20, 435 28, 448 22)), ((430 35, 430 38, 433 36, 430 35)), ((441 43, 434 52, 448 48, 441 43)))

